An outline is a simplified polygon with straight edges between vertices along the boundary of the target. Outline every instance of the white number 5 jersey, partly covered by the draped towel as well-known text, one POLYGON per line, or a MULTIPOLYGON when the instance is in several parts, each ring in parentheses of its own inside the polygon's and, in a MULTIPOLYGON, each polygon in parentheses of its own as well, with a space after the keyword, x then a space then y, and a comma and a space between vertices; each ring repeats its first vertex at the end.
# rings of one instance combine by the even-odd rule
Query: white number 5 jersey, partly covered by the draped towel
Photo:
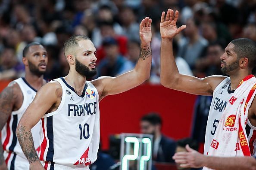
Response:
POLYGON ((232 97, 234 90, 230 90, 230 78, 224 79, 213 91, 212 103, 209 110, 208 121, 206 125, 204 155, 209 152, 209 146, 212 143, 219 120, 227 106, 228 100, 232 97))

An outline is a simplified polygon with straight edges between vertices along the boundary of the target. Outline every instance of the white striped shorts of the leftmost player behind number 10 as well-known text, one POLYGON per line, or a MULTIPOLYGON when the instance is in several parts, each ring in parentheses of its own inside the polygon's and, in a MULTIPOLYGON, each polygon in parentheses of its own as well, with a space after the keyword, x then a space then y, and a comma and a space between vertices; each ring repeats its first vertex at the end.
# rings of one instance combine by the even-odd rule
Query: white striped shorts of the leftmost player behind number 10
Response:
POLYGON ((8 170, 29 170, 27 158, 17 155, 14 152, 3 152, 3 157, 7 163, 8 170))

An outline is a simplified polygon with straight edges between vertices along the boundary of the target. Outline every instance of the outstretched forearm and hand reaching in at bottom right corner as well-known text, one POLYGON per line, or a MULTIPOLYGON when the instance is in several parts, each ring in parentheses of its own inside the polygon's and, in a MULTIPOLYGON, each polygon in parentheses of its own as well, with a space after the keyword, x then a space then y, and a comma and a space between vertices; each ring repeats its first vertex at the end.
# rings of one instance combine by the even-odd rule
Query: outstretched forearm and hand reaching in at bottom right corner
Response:
POLYGON ((187 152, 177 152, 173 159, 183 168, 208 167, 214 170, 256 170, 256 160, 251 157, 213 157, 203 155, 186 146, 187 152))

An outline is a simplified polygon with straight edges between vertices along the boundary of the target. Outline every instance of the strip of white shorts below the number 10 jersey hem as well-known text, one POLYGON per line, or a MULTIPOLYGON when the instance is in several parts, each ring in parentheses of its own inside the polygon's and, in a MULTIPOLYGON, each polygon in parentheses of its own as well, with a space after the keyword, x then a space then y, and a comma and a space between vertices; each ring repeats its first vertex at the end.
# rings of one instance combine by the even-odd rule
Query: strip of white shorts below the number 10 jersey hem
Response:
POLYGON ((90 170, 89 166, 79 165, 62 165, 52 162, 41 161, 45 170, 90 170))

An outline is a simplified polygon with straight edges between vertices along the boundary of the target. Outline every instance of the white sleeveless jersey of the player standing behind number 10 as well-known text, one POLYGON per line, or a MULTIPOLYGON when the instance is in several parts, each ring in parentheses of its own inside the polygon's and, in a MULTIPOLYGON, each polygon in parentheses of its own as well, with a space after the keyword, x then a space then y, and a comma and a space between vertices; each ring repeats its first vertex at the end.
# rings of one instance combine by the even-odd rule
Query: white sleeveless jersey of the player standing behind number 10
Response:
MULTIPOLYGON (((23 103, 18 110, 13 111, 11 113, 10 117, 8 118, 6 124, 3 127, 3 130, 1 131, 3 150, 5 152, 4 157, 5 157, 7 167, 14 167, 14 165, 16 164, 15 161, 17 159, 16 155, 24 158, 24 161, 28 162, 17 140, 16 128, 22 115, 25 113, 26 109, 28 108, 28 105, 33 101, 37 92, 33 87, 31 87, 31 85, 28 84, 25 78, 19 78, 14 80, 13 82, 16 82, 22 91, 23 103)), ((40 144, 39 143, 40 128, 41 128, 41 125, 39 122, 31 129, 31 133, 33 135, 33 140, 34 140, 34 147, 35 149, 37 149, 37 151, 39 151, 39 144, 40 144)))

